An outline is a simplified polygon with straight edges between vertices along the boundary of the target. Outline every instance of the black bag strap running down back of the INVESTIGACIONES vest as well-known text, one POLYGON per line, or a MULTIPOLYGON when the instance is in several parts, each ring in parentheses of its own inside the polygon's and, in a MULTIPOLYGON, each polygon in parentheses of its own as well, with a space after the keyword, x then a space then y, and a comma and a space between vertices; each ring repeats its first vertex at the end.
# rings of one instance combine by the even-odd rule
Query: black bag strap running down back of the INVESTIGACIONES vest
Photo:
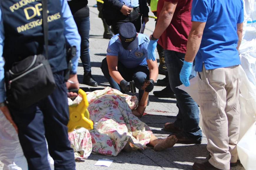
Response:
POLYGON ((43 30, 44 30, 45 57, 46 57, 46 59, 48 59, 47 0, 42 0, 42 5, 43 5, 43 30))

